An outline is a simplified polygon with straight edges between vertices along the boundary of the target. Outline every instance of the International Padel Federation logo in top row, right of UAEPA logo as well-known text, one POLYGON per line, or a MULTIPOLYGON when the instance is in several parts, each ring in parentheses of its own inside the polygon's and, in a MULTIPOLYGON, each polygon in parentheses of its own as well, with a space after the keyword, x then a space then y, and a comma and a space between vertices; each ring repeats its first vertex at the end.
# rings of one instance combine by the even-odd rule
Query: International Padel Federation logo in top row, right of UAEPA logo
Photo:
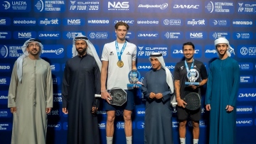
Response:
POLYGON ((65 1, 35 1, 34 6, 37 12, 63 12, 65 11, 65 1))

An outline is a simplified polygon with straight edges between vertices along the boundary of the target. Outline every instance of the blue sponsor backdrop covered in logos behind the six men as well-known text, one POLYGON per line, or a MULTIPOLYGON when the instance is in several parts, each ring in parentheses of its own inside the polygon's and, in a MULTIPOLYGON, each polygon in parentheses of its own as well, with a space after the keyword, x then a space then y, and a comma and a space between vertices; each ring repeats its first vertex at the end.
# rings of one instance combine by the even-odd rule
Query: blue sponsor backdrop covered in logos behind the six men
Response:
MULTIPOLYGON (((50 62, 53 73, 54 107, 48 114, 47 143, 66 143, 67 115, 63 114, 61 79, 65 61, 72 57, 72 40, 82 33, 90 38, 101 56, 105 43, 115 40, 114 24, 124 21, 130 29, 127 40, 137 45, 137 69, 142 77, 150 70, 152 52, 161 52, 166 67, 174 72, 183 59, 182 44, 196 45, 196 60, 207 69, 217 57, 213 41, 230 40, 231 57, 240 65, 237 142, 254 143, 256 134, 256 1, 255 0, 5 0, 0 1, 0 143, 10 143, 12 114, 7 108, 11 70, 21 45, 28 38, 42 40, 41 57, 50 62), (247 131, 247 133, 245 133, 247 131)), ((223 87, 225 89, 225 87, 223 87)), ((205 87, 206 89, 206 87, 205 87)), ((208 112, 202 101, 199 143, 208 143, 208 112)), ((144 143, 144 103, 137 96, 133 112, 133 142, 144 143)), ((98 111, 102 143, 105 143, 106 111, 98 111)), ((116 113, 115 143, 125 143, 123 111, 116 113)), ((176 111, 174 142, 178 143, 176 111)), ((188 121, 186 139, 192 143, 188 121)), ((228 133, 228 131, 227 131, 228 133)))

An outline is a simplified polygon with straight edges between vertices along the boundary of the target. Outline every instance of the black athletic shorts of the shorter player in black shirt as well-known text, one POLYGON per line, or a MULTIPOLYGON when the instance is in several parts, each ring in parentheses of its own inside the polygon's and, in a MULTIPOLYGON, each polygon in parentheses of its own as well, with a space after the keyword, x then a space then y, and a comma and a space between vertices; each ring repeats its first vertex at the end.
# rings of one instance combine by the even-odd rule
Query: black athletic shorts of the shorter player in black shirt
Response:
POLYGON ((177 106, 177 118, 179 121, 186 121, 188 117, 191 121, 199 121, 201 118, 201 107, 195 111, 190 111, 181 106, 177 106))

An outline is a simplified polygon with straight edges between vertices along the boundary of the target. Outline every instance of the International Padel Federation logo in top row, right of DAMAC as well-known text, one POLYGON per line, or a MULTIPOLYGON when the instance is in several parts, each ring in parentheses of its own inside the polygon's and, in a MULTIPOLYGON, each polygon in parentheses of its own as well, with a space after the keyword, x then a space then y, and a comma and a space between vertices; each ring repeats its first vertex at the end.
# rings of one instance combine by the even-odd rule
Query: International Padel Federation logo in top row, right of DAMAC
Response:
POLYGON ((207 13, 234 13, 233 2, 206 2, 207 13))

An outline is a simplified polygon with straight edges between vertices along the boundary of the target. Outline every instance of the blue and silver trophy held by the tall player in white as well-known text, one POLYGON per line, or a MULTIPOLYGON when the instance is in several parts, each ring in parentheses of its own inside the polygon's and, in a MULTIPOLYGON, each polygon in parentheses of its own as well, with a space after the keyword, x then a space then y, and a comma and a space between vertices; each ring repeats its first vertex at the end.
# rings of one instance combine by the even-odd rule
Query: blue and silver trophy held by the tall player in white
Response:
POLYGON ((140 79, 140 73, 137 70, 132 70, 128 74, 128 79, 131 84, 127 84, 128 89, 133 89, 134 87, 142 88, 142 84, 136 84, 140 79))

